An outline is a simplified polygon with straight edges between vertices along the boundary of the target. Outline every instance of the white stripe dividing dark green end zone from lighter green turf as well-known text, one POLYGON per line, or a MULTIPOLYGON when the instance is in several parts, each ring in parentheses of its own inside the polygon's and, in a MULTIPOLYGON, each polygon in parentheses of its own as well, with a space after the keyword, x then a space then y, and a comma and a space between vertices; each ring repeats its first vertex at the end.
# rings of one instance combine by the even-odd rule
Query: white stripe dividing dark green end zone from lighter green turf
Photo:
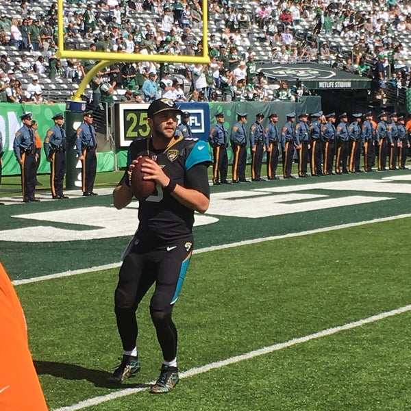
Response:
MULTIPOLYGON (((281 238, 308 236, 309 234, 329 232, 329 231, 333 231, 333 230, 336 230, 336 229, 356 227, 358 225, 382 223, 384 221, 406 219, 407 217, 411 217, 411 214, 399 214, 397 216, 382 217, 380 219, 373 219, 373 220, 367 220, 367 221, 358 221, 357 223, 332 225, 330 227, 310 229, 310 230, 303 231, 303 232, 288 233, 288 234, 282 234, 282 235, 279 235, 279 236, 271 236, 271 237, 263 237, 263 238, 253 238, 252 240, 232 242, 230 244, 214 245, 212 247, 204 247, 202 249, 194 250, 194 253, 195 254, 207 253, 208 251, 217 251, 217 250, 223 250, 223 249, 228 249, 228 248, 233 248, 233 247, 240 247, 241 245, 257 244, 258 242, 279 240, 281 238)), ((88 273, 90 271, 102 271, 102 270, 108 270, 108 269, 116 269, 119 266, 121 266, 121 262, 114 262, 112 264, 104 264, 104 265, 101 265, 101 266, 94 266, 94 267, 90 267, 88 269, 64 271, 64 273, 55 273, 55 274, 49 274, 49 275, 42 275, 40 277, 32 277, 32 278, 27 278, 27 279, 16 279, 12 283, 14 284, 14 286, 20 286, 22 284, 29 284, 29 283, 38 282, 38 281, 45 281, 47 279, 70 277, 71 275, 84 274, 84 273, 88 273)))

